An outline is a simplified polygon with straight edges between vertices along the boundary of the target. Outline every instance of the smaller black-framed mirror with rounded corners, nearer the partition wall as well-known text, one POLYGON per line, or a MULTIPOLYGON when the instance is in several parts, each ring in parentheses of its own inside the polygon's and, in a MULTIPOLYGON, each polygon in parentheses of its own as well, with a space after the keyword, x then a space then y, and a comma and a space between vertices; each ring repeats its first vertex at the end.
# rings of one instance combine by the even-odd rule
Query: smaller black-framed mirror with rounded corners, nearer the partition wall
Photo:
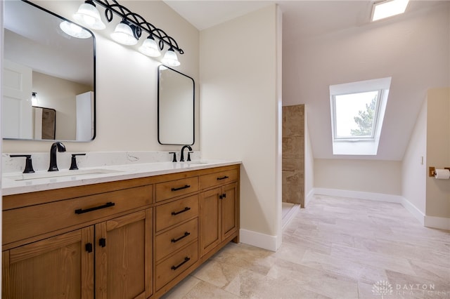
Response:
POLYGON ((158 142, 194 144, 194 80, 170 67, 158 67, 158 142))

